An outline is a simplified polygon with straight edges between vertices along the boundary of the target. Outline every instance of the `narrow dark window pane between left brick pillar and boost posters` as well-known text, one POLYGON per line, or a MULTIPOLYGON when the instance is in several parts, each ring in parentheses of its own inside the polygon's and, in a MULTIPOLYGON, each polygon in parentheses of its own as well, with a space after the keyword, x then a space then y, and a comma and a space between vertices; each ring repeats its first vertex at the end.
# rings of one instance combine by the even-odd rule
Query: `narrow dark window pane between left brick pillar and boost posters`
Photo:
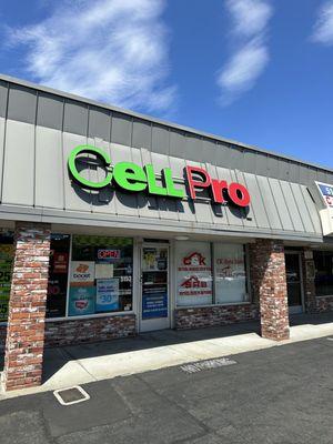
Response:
POLYGON ((65 316, 69 234, 51 234, 47 317, 65 316))

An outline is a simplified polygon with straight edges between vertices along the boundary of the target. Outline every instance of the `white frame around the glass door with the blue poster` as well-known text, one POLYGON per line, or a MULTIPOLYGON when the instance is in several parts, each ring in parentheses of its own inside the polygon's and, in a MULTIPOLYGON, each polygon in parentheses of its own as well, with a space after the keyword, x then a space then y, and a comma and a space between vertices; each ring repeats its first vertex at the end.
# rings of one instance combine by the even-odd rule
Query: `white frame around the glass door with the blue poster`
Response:
POLYGON ((139 306, 138 306, 138 331, 139 331, 139 333, 143 333, 143 332, 149 332, 149 331, 158 331, 158 330, 168 330, 168 329, 171 329, 171 325, 172 325, 172 319, 171 319, 171 294, 170 294, 170 289, 171 289, 171 273, 170 273, 170 264, 171 264, 171 260, 170 260, 170 252, 171 252, 171 245, 170 245, 170 242, 165 242, 165 243, 163 243, 163 242, 154 242, 154 241, 152 241, 152 242, 148 242, 148 241, 144 241, 144 242, 140 242, 140 244, 139 244, 139 279, 138 279, 138 281, 139 281, 139 306), (167 284, 168 284, 168 317, 153 317, 153 319, 151 319, 151 320, 142 320, 142 254, 143 254, 143 249, 144 248, 165 248, 167 250, 168 250, 168 268, 167 268, 167 274, 168 274, 168 278, 167 278, 167 284), (147 323, 147 325, 149 324, 149 323, 151 323, 152 324, 152 326, 154 325, 154 323, 157 324, 158 323, 158 320, 161 320, 161 319, 165 319, 165 320, 168 320, 167 322, 165 322, 165 324, 167 324, 167 326, 162 326, 161 329, 154 329, 154 327, 152 327, 151 330, 145 330, 144 327, 143 327, 143 324, 142 323, 147 323), (151 322, 150 322, 151 321, 151 322), (155 322, 154 322, 155 321, 155 322))

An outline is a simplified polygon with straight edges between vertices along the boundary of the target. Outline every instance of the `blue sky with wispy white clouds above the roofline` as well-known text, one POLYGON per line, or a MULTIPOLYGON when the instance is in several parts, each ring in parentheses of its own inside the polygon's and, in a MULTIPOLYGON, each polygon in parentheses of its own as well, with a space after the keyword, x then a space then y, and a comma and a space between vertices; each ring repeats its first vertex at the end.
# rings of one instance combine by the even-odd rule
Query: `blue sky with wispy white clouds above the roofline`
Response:
POLYGON ((2 0, 0 71, 333 168, 333 0, 2 0))

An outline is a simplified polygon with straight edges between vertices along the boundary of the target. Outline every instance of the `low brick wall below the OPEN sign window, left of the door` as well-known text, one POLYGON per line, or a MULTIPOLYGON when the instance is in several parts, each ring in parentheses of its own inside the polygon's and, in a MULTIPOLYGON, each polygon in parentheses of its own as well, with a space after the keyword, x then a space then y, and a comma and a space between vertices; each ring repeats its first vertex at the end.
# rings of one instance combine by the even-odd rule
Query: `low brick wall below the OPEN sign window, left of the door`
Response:
POLYGON ((46 323, 46 346, 74 345, 134 335, 134 314, 46 323))

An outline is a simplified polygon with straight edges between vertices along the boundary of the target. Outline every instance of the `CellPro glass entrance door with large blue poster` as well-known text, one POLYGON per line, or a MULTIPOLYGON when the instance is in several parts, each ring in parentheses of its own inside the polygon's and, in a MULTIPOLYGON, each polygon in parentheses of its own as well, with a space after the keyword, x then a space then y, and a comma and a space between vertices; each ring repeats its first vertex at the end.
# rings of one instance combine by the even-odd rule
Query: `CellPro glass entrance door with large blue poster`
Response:
POLYGON ((169 301, 169 245, 143 244, 141 250, 141 332, 170 327, 169 301))

